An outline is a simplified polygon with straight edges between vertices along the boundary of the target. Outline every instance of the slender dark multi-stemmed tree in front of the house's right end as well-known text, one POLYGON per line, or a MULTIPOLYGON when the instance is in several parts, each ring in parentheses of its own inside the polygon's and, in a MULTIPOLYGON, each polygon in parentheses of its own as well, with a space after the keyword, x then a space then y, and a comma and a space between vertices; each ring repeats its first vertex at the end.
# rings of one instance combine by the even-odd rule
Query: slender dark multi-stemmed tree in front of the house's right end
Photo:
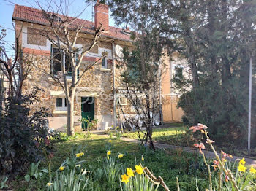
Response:
POLYGON ((159 87, 165 69, 165 64, 160 60, 162 46, 160 46, 157 31, 135 35, 135 50, 132 52, 124 50, 124 59, 118 63, 118 67, 124 69, 121 74, 124 89, 119 90, 119 93, 127 98, 129 105, 134 108, 135 114, 126 117, 121 103, 118 105, 128 123, 128 128, 138 130, 140 143, 155 149, 152 133, 153 127, 159 125, 157 124, 159 121, 155 118, 161 112, 159 87), (146 130, 143 130, 142 127, 146 130))

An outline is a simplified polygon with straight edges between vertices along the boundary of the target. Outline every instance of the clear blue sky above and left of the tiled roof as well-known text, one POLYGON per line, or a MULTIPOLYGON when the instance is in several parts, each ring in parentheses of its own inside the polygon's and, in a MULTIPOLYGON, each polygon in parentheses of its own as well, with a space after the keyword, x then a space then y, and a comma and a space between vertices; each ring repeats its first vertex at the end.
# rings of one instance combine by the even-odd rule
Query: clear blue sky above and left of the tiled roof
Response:
MULTIPOLYGON (((56 0, 60 1, 60 0, 56 0)), ((87 9, 86 11, 83 12, 82 15, 80 15, 80 18, 85 19, 85 20, 94 20, 92 17, 92 8, 94 4, 86 4, 86 0, 69 0, 71 3, 71 6, 69 7, 69 14, 70 16, 74 16, 75 13, 81 12, 83 9, 85 9, 86 6, 87 9)), ((40 3, 44 4, 45 0, 39 0, 40 3)), ((7 48, 7 53, 9 55, 13 55, 13 50, 11 48, 11 45, 15 41, 15 32, 12 30, 14 24, 12 22, 12 12, 14 9, 15 4, 20 4, 20 5, 25 5, 29 7, 35 7, 38 8, 37 4, 34 3, 33 0, 0 0, 0 30, 4 27, 7 29, 7 36, 4 38, 6 48, 7 48)), ((110 26, 115 26, 113 19, 110 17, 110 26)))

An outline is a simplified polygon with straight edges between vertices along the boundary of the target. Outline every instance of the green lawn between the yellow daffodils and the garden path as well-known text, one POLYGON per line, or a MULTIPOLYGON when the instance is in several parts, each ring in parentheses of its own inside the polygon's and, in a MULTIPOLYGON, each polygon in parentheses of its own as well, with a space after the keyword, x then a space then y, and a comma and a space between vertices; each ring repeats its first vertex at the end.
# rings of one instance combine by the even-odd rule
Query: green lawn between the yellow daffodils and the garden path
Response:
MULTIPOLYGON (((176 131, 182 132, 182 127, 177 128, 176 131)), ((165 132, 159 130, 159 133, 165 132)), ((58 170, 61 163, 66 157, 69 157, 72 148, 85 147, 83 151, 85 155, 80 157, 80 160, 86 160, 83 164, 84 168, 93 171, 100 161, 105 160, 106 150, 109 146, 109 138, 92 134, 89 139, 85 138, 84 134, 76 134, 70 140, 61 141, 55 144, 56 151, 51 161, 50 168, 52 174, 58 170)), ((157 136, 156 136, 157 138, 157 136)), ((200 190, 205 190, 207 181, 206 168, 203 165, 202 157, 192 153, 185 153, 181 150, 157 150, 156 152, 146 151, 145 148, 140 147, 134 142, 121 141, 118 139, 111 139, 112 157, 116 157, 118 153, 123 153, 124 157, 121 158, 124 169, 127 167, 134 168, 138 163, 143 163, 156 176, 162 176, 165 183, 170 187, 170 190, 176 190, 176 176, 180 180, 182 190, 195 190, 195 179, 199 182, 200 190), (141 162, 141 155, 145 158, 141 162)), ((48 168, 48 163, 43 163, 41 168, 48 168)), ((120 174, 121 176, 121 174, 120 174)), ((23 176, 18 176, 12 182, 12 188, 15 190, 45 190, 45 184, 49 181, 48 174, 46 174, 40 182, 27 182, 24 181, 23 176)), ((119 182, 116 182, 116 190, 118 189, 119 182)), ((102 190, 108 190, 106 185, 101 185, 102 190), (104 189, 103 189, 104 188, 104 189)), ((112 189, 111 189, 112 190, 112 189)))

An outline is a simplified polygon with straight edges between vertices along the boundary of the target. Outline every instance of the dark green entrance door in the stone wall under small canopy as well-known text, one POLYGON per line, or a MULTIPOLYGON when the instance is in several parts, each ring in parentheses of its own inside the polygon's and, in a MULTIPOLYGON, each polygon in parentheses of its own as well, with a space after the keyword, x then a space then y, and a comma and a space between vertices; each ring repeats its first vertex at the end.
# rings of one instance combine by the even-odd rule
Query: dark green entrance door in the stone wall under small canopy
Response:
MULTIPOLYGON (((94 120, 94 98, 93 97, 83 97, 81 104, 82 118, 94 120)), ((87 123, 82 122, 82 128, 87 128, 87 123)))

